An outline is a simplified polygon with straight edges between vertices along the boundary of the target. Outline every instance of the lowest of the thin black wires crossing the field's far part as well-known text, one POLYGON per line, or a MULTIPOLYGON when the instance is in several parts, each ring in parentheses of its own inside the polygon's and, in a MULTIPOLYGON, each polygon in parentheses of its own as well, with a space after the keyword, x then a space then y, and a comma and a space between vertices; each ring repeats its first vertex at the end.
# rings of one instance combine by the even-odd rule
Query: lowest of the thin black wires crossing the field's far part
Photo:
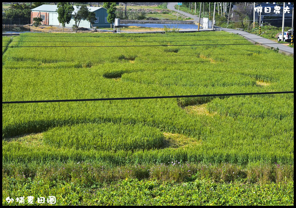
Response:
MULTIPOLYGON (((192 44, 192 45, 148 45, 148 46, 229 46, 229 45, 264 45, 264 44, 286 44, 286 43, 231 43, 231 44, 192 44)), ((2 48, 52 48, 52 47, 148 47, 148 46, 2 46, 2 48)))

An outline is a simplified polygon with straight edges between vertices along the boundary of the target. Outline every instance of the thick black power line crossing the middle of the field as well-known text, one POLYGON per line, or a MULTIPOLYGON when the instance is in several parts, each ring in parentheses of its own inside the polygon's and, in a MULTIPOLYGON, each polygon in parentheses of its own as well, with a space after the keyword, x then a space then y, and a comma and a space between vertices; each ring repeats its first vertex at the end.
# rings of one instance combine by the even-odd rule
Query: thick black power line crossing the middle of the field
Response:
POLYGON ((2 101, 2 104, 15 103, 53 103, 53 102, 77 102, 77 101, 103 101, 103 100, 139 100, 139 99, 163 99, 163 98, 188 98, 188 97, 218 97, 218 96, 239 96, 239 95, 268 95, 294 93, 294 91, 282 92, 254 92, 254 93, 228 93, 210 95, 180 95, 180 96, 154 96, 154 97, 127 97, 127 98, 95 98, 95 99, 67 99, 67 100, 31 100, 31 101, 2 101))

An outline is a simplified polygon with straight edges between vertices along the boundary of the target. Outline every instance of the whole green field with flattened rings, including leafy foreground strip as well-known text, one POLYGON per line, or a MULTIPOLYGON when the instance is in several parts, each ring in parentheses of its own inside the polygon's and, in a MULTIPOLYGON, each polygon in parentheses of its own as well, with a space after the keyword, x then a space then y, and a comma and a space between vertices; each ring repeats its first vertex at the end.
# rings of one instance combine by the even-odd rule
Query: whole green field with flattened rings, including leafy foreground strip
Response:
MULTIPOLYGON (((2 37, 2 101, 294 91, 294 57, 207 45, 237 43, 250 42, 226 32, 2 37)), ((293 205, 293 172, 293 93, 2 104, 3 205, 293 205)))

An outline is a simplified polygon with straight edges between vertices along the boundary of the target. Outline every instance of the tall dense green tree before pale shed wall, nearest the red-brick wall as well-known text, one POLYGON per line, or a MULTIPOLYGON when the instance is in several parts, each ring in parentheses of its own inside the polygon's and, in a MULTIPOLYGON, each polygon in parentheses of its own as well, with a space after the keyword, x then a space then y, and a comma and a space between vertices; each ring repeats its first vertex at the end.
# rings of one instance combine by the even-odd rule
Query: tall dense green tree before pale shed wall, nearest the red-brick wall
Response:
POLYGON ((67 2, 59 2, 57 4, 57 10, 56 10, 58 14, 57 19, 59 20, 59 23, 62 24, 63 31, 65 28, 65 24, 70 23, 73 11, 74 11, 74 7, 67 2))

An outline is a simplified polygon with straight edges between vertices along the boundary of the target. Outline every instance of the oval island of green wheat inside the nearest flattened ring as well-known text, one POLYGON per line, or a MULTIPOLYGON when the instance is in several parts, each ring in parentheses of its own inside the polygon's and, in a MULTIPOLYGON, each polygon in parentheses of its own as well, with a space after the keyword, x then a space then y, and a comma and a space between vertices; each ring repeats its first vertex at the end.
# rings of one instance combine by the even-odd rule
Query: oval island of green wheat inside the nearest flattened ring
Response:
POLYGON ((44 142, 57 148, 128 151, 160 148, 163 134, 156 128, 143 125, 80 124, 46 131, 44 142))

